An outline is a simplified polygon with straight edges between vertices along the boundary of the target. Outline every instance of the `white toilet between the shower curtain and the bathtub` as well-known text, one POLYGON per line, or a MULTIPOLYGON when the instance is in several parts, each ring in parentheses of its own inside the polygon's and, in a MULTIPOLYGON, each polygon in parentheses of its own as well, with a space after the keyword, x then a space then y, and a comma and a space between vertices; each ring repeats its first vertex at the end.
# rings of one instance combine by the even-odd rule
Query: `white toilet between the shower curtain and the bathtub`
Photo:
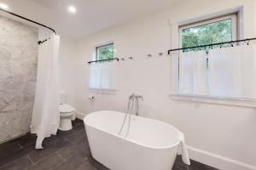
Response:
POLYGON ((72 129, 72 120, 75 119, 75 109, 67 104, 67 94, 60 94, 60 126, 59 129, 67 131, 72 129))

